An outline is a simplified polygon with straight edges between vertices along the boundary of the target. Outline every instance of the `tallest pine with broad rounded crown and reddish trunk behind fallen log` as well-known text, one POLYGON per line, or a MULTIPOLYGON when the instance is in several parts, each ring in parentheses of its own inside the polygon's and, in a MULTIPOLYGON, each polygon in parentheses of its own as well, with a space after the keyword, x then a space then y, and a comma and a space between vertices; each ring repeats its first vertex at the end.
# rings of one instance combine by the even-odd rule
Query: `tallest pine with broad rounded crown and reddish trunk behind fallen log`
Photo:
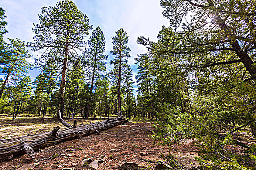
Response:
POLYGON ((66 74, 72 52, 77 53, 84 46, 84 36, 89 34, 91 26, 88 17, 78 10, 72 0, 61 0, 54 7, 43 7, 39 15, 39 24, 34 24, 33 50, 45 50, 44 61, 53 57, 61 62, 60 105, 61 114, 64 111, 66 74), (50 52, 49 52, 50 51, 50 52))

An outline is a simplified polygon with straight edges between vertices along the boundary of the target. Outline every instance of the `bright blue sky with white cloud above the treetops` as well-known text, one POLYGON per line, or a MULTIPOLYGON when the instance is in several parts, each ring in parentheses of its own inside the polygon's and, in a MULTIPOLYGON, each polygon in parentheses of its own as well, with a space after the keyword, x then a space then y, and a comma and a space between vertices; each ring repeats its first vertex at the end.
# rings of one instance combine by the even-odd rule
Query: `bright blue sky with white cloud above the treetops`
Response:
MULTIPOLYGON (((38 23, 38 14, 43 6, 54 6, 58 0, 0 0, 0 6, 6 10, 7 16, 7 38, 19 38, 23 41, 32 41, 33 23, 38 23)), ((137 66, 134 58, 137 54, 144 54, 147 49, 136 43, 137 37, 143 35, 156 41, 162 25, 168 26, 167 19, 162 17, 163 9, 159 0, 73 0, 78 9, 85 13, 93 28, 100 26, 106 38, 106 54, 109 55, 107 69, 111 70, 109 60, 113 59, 111 37, 115 31, 124 28, 129 36, 128 46, 131 49, 131 58, 128 64, 133 69, 134 76, 137 73, 137 66)), ((39 52, 32 52, 34 56, 39 52)), ((30 72, 35 78, 38 70, 30 72)), ((135 78, 134 78, 135 80, 135 78)), ((135 86, 136 87, 136 86, 135 86)))

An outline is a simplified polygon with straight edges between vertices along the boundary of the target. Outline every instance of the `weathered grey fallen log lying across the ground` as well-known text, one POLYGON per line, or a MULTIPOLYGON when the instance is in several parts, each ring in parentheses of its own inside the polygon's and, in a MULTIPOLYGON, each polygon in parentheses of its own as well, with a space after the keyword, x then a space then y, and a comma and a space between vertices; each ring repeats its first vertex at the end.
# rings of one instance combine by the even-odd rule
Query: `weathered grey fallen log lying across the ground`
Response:
POLYGON ((52 131, 46 133, 0 140, 0 159, 8 159, 25 153, 34 159, 35 150, 78 137, 87 136, 92 133, 99 133, 100 131, 126 122, 128 122, 127 119, 119 117, 88 125, 77 126, 77 124, 74 123, 74 126, 65 129, 60 129, 60 127, 57 126, 52 131))

